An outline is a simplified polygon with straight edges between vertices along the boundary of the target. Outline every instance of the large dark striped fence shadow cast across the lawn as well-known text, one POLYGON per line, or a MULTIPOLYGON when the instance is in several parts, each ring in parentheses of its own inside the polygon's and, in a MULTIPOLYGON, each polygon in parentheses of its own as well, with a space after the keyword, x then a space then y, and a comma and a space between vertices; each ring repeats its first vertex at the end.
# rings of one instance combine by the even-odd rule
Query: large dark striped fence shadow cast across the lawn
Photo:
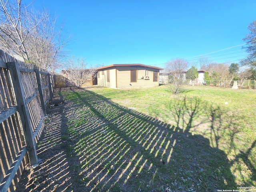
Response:
POLYGON ((225 153, 189 132, 197 107, 184 130, 88 90, 68 97, 69 161, 80 160, 76 191, 236 189, 225 153))

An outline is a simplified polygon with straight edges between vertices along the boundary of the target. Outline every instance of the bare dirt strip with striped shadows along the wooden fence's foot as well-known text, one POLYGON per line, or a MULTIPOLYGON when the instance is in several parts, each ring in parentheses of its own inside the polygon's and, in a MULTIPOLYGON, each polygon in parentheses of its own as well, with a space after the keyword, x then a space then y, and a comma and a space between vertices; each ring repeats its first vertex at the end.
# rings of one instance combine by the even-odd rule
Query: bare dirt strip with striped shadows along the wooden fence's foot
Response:
POLYGON ((16 192, 24 191, 66 191, 72 181, 69 162, 66 156, 68 142, 63 138, 66 132, 66 116, 63 113, 64 101, 57 91, 51 106, 48 106, 48 117, 45 118, 44 132, 37 144, 38 158, 42 162, 36 168, 27 166, 16 192))

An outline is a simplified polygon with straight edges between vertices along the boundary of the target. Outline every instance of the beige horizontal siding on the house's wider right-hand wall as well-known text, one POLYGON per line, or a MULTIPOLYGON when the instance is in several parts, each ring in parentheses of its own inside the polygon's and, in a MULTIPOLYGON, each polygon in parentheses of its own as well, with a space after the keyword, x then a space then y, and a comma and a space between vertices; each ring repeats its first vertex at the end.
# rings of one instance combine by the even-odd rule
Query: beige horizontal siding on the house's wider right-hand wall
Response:
MULTIPOLYGON (((118 66, 117 68, 117 88, 130 87, 150 87, 158 86, 159 83, 153 82, 154 71, 152 68, 118 66), (131 82, 131 70, 137 70, 137 82, 131 82), (146 79, 146 76, 149 78, 146 79)), ((159 77, 159 72, 158 72, 159 77)))

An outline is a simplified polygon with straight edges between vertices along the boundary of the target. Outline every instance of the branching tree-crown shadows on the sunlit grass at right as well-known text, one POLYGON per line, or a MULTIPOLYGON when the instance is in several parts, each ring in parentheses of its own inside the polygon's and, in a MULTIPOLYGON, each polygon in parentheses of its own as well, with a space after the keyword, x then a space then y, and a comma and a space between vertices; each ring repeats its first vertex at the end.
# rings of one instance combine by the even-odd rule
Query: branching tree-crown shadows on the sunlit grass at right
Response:
POLYGON ((256 142, 253 141, 247 150, 245 147, 241 149, 241 142, 245 142, 243 138, 239 138, 243 130, 243 125, 240 124, 242 117, 230 115, 220 106, 203 102, 197 97, 178 98, 170 104, 169 109, 182 132, 200 132, 209 138, 210 146, 218 149, 222 142, 226 154, 232 154, 228 162, 233 174, 238 177, 237 183, 242 186, 255 185, 256 168, 253 162, 256 142))

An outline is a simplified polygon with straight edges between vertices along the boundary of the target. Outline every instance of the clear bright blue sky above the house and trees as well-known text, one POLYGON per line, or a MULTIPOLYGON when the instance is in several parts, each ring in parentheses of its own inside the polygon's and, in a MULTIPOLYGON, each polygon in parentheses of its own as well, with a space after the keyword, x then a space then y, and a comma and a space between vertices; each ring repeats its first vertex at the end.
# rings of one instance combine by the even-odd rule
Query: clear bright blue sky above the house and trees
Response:
POLYGON ((237 45, 244 44, 248 25, 256 20, 255 0, 35 0, 33 4, 56 13, 72 34, 70 54, 95 67, 134 63, 164 67, 174 58, 193 64, 203 54, 211 62, 239 62, 246 52, 237 45))

